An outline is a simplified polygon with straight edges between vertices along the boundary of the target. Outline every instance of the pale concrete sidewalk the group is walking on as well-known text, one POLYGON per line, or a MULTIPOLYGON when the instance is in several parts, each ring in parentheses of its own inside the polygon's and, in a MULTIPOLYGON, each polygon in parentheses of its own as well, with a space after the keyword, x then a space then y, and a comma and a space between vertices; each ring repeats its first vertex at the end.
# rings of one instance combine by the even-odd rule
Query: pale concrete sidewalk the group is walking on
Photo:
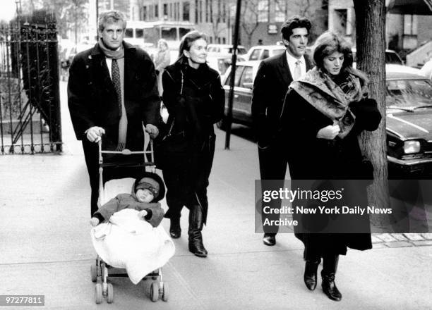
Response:
MULTIPOLYGON (((388 245, 392 241, 380 235, 369 251, 349 250, 336 278, 341 302, 325 297, 320 282, 309 292, 301 242, 280 234, 277 244, 267 247, 254 233, 256 145, 233 135, 232 148, 225 151, 220 130, 203 230, 208 258, 188 252, 186 210, 181 238, 174 240, 176 254, 164 267, 169 301, 150 301, 150 281, 133 285, 128 278, 114 278, 114 304, 96 305, 90 281, 95 259, 90 186, 80 142, 71 130, 64 83, 61 98, 63 154, 0 157, 0 294, 44 294, 42 309, 432 309, 427 235, 423 243, 407 241, 402 247, 388 245)), ((162 225, 169 229, 169 221, 162 225)))

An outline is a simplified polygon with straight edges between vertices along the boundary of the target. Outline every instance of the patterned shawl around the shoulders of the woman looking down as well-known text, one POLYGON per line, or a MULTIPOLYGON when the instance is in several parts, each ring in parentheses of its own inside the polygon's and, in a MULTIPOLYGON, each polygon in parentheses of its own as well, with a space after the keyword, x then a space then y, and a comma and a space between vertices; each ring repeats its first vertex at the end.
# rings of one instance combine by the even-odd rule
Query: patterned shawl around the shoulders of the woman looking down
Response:
POLYGON ((356 121, 349 104, 367 97, 368 80, 363 73, 350 67, 345 68, 335 80, 337 82, 320 68, 314 67, 300 80, 293 81, 289 88, 330 118, 333 124, 339 125, 337 136, 342 139, 352 130, 356 121))

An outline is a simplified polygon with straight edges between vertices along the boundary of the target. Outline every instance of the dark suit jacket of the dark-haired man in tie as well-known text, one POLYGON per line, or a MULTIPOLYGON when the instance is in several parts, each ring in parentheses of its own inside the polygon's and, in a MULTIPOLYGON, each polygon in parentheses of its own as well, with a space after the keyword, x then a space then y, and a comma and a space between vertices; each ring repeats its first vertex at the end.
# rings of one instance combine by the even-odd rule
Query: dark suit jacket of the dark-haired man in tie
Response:
MULTIPOLYGON (((312 68, 305 55, 306 71, 312 68)), ((252 117, 258 147, 268 147, 277 140, 285 94, 292 82, 287 54, 263 60, 253 83, 252 117)))

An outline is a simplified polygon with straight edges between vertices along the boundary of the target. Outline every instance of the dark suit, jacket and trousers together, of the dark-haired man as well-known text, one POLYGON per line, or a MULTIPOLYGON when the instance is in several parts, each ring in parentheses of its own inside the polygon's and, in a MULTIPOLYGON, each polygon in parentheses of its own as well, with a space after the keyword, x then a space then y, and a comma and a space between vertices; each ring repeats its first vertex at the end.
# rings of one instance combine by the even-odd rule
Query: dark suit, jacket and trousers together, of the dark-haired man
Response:
MULTIPOLYGON (((305 55, 306 70, 311 68, 311 61, 305 55)), ((281 115, 285 94, 292 82, 289 71, 287 54, 282 53, 263 60, 258 68, 253 83, 252 117, 258 142, 258 158, 260 162, 260 177, 262 180, 280 180, 272 183, 272 187, 283 187, 283 180, 287 172, 288 141, 282 139, 281 115)), ((292 102, 290 104, 295 104, 292 102)), ((286 107, 285 107, 286 109, 286 107)), ((275 190, 268 183, 261 184, 261 190, 275 190)), ((268 204, 272 209, 280 208, 277 200, 268 204)), ((262 213, 262 221, 279 219, 278 213, 262 213)), ((277 225, 263 225, 264 233, 275 234, 277 225)))

